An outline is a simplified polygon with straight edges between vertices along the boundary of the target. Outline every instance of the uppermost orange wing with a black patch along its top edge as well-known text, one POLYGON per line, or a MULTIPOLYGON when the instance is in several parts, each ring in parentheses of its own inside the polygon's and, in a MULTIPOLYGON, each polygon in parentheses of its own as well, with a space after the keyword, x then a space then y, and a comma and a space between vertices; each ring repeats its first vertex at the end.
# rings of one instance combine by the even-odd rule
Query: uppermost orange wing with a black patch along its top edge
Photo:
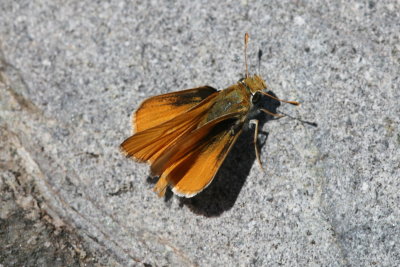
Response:
POLYGON ((141 132, 173 119, 215 92, 210 86, 202 86, 146 99, 134 113, 133 131, 141 132))

